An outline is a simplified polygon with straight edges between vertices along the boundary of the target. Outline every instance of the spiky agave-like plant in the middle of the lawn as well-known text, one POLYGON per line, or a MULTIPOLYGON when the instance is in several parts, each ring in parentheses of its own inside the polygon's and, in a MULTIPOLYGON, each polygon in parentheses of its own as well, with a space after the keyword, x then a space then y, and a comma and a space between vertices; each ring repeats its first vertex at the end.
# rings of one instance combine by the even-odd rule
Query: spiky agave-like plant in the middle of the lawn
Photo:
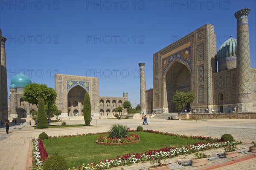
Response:
POLYGON ((128 136, 127 128, 122 124, 113 124, 108 131, 111 138, 123 138, 128 136))

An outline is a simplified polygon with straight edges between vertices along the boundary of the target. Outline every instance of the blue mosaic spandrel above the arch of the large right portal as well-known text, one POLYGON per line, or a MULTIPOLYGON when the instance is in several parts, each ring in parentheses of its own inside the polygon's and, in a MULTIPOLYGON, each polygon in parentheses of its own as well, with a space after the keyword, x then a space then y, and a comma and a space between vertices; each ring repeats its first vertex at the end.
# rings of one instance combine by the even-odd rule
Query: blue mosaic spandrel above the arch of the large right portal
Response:
POLYGON ((191 46, 162 59, 163 75, 175 59, 186 63, 189 69, 191 69, 191 46))

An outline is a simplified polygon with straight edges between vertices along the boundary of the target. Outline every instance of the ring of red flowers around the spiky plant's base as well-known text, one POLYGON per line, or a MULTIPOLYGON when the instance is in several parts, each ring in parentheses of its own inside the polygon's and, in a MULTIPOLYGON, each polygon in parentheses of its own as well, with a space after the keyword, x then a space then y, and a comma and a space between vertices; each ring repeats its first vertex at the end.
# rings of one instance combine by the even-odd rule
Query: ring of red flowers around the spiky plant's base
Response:
POLYGON ((111 138, 109 136, 99 136, 98 138, 98 142, 100 143, 114 143, 114 144, 130 143, 138 140, 140 140, 140 136, 134 135, 133 133, 124 138, 117 138, 117 137, 111 138))

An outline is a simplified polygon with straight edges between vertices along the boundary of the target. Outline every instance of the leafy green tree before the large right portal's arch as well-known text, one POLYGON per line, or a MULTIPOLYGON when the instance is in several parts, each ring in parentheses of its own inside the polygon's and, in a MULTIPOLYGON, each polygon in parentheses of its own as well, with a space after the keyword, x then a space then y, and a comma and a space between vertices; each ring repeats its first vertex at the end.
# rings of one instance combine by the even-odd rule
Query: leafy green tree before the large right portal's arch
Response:
POLYGON ((188 92, 182 92, 182 91, 176 91, 173 93, 172 96, 172 103, 175 104, 175 108, 178 110, 178 118, 180 120, 181 113, 183 112, 183 109, 186 107, 188 103, 192 103, 195 100, 195 94, 194 92, 188 91, 188 92))

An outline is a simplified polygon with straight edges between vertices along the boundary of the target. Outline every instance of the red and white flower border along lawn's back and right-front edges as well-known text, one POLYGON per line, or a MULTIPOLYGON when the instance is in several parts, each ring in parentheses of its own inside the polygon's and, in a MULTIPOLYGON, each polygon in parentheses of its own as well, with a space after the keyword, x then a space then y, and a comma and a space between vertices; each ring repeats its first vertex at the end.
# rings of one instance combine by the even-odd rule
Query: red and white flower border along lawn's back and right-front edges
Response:
MULTIPOLYGON (((134 131, 134 130, 132 130, 134 131)), ((131 132, 131 130, 130 130, 131 132)), ((203 150, 209 150, 209 149, 215 149, 220 147, 225 147, 228 144, 235 145, 239 142, 233 141, 233 142, 224 142, 220 141, 218 138, 209 138, 209 137, 203 137, 203 136, 187 136, 187 135, 179 135, 174 133, 165 133, 165 132, 159 132, 159 131, 153 131, 153 130, 145 130, 144 132, 149 133, 157 133, 157 134, 163 134, 163 135, 172 135, 177 136, 181 138, 196 138, 196 139, 202 139, 202 140, 209 140, 209 143, 196 143, 194 145, 187 145, 180 148, 174 148, 174 147, 166 147, 162 148, 160 150, 148 150, 145 153, 134 153, 134 154, 125 154, 122 157, 116 157, 113 159, 107 159, 105 161, 100 161, 98 164, 96 163, 90 163, 90 164, 83 164, 79 167, 73 167, 72 170, 104 170, 104 169, 110 169, 111 167, 118 167, 122 165, 128 165, 128 164, 134 164, 142 161, 150 161, 152 158, 173 158, 178 155, 183 154, 190 154, 190 153, 196 153, 198 151, 203 150)), ((107 134, 107 133, 96 133, 96 134, 107 134)), ((63 136, 53 136, 49 138, 67 138, 67 137, 76 137, 76 136, 85 136, 85 135, 96 135, 93 133, 88 134, 81 134, 81 135, 63 135, 63 136)))

